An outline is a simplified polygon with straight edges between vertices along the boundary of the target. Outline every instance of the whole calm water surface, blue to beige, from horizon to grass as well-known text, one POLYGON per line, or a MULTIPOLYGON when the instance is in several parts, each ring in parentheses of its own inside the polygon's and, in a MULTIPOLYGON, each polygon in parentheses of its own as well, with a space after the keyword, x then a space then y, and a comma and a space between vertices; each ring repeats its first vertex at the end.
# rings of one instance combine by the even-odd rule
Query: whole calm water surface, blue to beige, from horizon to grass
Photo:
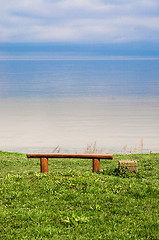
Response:
POLYGON ((1 60, 0 149, 159 151, 159 60, 1 60))

